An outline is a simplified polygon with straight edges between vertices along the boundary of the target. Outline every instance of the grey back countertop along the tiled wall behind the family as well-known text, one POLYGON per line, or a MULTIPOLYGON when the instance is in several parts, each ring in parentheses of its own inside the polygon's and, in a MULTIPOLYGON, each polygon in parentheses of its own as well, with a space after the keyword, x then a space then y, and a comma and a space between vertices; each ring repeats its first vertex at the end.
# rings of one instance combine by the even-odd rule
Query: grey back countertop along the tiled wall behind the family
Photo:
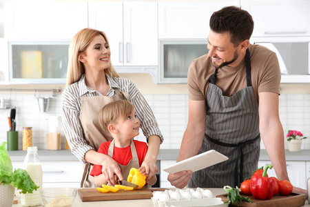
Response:
MULTIPOLYGON (((180 150, 178 149, 161 149, 159 150, 158 160, 176 160, 180 150)), ((23 161, 27 151, 16 150, 8 151, 12 161, 23 161)), ((41 161, 78 161, 72 154, 71 150, 38 150, 41 161)), ((300 152, 290 152, 285 150, 287 161, 310 161, 310 150, 301 150, 300 152)), ((260 160, 269 160, 266 150, 260 150, 260 160)))

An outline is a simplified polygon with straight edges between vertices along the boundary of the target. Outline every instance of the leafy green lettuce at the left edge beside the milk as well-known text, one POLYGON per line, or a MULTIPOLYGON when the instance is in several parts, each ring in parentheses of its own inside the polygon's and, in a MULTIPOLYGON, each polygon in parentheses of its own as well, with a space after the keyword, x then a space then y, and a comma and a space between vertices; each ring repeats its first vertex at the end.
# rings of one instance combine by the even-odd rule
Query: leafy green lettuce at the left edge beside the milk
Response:
POLYGON ((21 190, 20 193, 32 193, 39 186, 34 184, 26 170, 17 169, 12 172, 12 161, 6 150, 6 142, 0 146, 0 184, 11 184, 21 190))

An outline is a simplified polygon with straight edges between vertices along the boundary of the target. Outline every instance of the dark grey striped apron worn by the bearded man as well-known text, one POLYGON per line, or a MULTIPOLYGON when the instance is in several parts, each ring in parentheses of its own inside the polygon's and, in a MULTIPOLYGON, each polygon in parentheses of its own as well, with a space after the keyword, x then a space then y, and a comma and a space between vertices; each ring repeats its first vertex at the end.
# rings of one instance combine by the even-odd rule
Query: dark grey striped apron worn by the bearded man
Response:
POLYGON ((216 68, 207 89, 205 137, 198 154, 216 150, 229 157, 227 161, 194 172, 188 187, 223 188, 240 186, 258 166, 260 132, 258 101, 251 84, 249 49, 245 55, 247 87, 231 97, 216 86, 216 68))

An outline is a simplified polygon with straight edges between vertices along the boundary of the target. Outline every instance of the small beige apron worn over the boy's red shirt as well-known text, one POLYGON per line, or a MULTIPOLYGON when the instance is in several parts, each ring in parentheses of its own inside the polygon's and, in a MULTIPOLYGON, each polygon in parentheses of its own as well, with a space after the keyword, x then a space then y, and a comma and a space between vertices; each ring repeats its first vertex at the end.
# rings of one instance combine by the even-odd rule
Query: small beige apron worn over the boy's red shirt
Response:
MULTIPOLYGON (((118 166, 121 168, 124 180, 127 180, 131 168, 137 168, 137 169, 140 168, 139 159, 138 155, 136 155, 136 147, 134 146, 133 140, 130 141, 130 149, 132 150, 132 159, 130 159, 127 166, 122 166, 121 164, 118 164, 118 166)), ((111 141, 107 155, 113 157, 113 151, 114 151, 114 140, 111 141)))

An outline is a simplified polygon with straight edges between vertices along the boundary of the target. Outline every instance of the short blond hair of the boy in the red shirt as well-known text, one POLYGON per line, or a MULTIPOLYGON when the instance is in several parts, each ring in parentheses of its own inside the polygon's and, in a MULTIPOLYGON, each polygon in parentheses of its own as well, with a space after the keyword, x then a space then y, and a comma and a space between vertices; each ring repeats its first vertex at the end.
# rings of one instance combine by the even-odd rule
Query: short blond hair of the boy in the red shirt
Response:
POLYGON ((128 115, 134 110, 134 105, 130 101, 117 100, 111 103, 107 103, 99 111, 98 119, 99 124, 105 132, 109 132, 107 126, 114 124, 116 119, 126 119, 128 115))

